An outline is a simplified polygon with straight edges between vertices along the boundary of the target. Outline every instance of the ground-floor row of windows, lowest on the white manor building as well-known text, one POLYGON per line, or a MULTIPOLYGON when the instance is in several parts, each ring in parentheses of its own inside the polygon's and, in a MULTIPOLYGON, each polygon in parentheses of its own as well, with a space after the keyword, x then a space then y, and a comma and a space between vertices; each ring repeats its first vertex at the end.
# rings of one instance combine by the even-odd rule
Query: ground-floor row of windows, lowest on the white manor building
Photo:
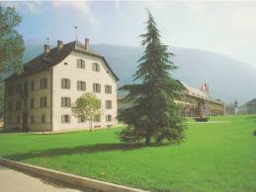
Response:
MULTIPOLYGON (((96 115, 93 120, 94 120, 94 122, 101 122, 101 115, 96 115)), ((17 119, 16 119, 16 123, 20 124, 21 122, 22 122, 22 117, 21 117, 21 115, 18 115, 17 119)), ((61 115, 61 123, 70 123, 70 122, 71 122, 71 115, 69 115, 69 114, 61 115)), ((85 118, 78 118, 78 123, 85 123, 85 122, 86 122, 85 118)), ((112 115, 110 115, 110 114, 106 115, 106 122, 112 122, 112 115)), ((8 123, 12 124, 11 117, 8 118, 8 123)), ((34 115, 30 116, 30 123, 31 124, 35 123, 34 115)), ((46 123, 45 114, 42 114, 42 116, 41 116, 41 123, 46 123)))

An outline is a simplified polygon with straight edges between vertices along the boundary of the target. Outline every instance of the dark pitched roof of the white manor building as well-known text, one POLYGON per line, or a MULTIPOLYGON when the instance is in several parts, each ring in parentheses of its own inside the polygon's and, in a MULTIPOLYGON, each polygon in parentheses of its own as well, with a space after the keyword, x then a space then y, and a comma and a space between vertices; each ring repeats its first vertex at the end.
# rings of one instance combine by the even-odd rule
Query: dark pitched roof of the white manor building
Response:
POLYGON ((49 67, 54 66, 61 62, 65 57, 67 57, 72 51, 81 52, 84 54, 89 54, 92 56, 96 56, 99 58, 102 58, 104 62, 106 63, 107 67, 109 68, 110 72, 113 74, 113 76, 116 78, 117 81, 119 81, 118 76, 113 72, 111 69, 109 63, 105 59, 104 56, 94 52, 93 50, 85 49, 85 46, 83 43, 79 41, 71 41, 66 44, 63 44, 62 48, 52 48, 50 51, 46 54, 42 53, 41 55, 35 57, 34 59, 30 60, 28 63, 24 64, 24 72, 20 75, 14 74, 11 75, 8 79, 13 79, 16 77, 26 76, 33 73, 41 72, 43 70, 49 69, 49 67))

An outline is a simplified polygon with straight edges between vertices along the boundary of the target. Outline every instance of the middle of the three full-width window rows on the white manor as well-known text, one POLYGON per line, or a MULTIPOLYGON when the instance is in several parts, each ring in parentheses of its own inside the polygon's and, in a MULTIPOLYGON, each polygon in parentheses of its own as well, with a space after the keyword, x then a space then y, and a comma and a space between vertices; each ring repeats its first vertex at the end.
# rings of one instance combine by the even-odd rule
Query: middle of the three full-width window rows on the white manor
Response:
MULTIPOLYGON (((42 96, 40 99, 40 106, 47 106, 47 96, 42 96)), ((62 107, 70 107, 71 106, 71 97, 61 97, 61 106, 62 107)), ((25 109, 27 108, 27 102, 24 103, 25 109)), ((112 109, 112 100, 105 100, 106 109, 112 109)), ((13 110, 13 103, 11 101, 8 102, 7 108, 9 111, 13 110)), ((35 108, 35 100, 31 98, 31 108, 35 108)), ((16 110, 22 110, 22 101, 16 101, 16 110)))

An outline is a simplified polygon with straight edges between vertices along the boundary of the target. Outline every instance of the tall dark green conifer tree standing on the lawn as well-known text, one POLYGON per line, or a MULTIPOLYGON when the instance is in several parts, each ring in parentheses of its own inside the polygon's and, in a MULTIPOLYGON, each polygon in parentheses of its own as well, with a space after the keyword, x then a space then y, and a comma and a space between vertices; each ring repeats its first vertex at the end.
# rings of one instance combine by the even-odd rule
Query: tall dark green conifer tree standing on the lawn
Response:
POLYGON ((125 101, 132 106, 121 111, 120 118, 128 124, 120 138, 124 142, 145 141, 160 143, 181 141, 184 138, 184 123, 179 107, 174 103, 183 91, 183 87, 171 78, 170 72, 177 66, 171 61, 173 53, 160 41, 153 16, 147 10, 146 31, 141 34, 141 45, 145 47, 134 80, 141 84, 123 86, 120 91, 128 95, 125 101))

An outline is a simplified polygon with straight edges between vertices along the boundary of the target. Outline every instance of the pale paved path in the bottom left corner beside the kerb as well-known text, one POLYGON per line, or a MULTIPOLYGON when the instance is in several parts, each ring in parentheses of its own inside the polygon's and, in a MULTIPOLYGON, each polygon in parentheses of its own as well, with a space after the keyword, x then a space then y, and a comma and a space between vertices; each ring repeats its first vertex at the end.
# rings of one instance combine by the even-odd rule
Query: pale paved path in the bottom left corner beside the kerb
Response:
MULTIPOLYGON (((89 190, 90 191, 90 190, 89 190)), ((0 192, 81 192, 0 165, 0 192)))

